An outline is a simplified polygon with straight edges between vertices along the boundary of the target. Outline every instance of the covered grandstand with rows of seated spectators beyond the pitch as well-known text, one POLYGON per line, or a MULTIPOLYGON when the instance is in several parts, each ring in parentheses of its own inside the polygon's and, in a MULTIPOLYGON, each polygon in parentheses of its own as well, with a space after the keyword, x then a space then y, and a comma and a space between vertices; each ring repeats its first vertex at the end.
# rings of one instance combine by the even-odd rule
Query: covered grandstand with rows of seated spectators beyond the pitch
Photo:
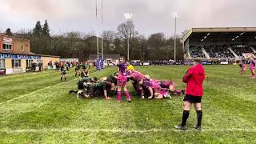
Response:
POLYGON ((183 46, 188 60, 255 58, 256 27, 192 28, 185 34, 183 46))

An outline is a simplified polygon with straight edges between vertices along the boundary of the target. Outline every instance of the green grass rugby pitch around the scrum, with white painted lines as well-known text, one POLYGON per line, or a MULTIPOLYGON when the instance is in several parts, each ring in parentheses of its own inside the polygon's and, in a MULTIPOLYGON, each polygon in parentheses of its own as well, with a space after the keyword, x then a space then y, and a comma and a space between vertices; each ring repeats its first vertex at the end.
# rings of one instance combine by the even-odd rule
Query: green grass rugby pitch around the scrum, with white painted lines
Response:
MULTIPOLYGON (((172 79, 184 89, 188 66, 136 67, 143 74, 172 79)), ((0 78, 0 143, 256 143, 255 79, 240 75, 238 66, 205 66, 202 131, 193 130, 195 111, 187 131, 175 130, 182 117, 182 97, 148 100, 132 97, 82 99, 68 90, 77 88, 74 70, 69 81, 59 72, 14 74, 0 78)), ((92 71, 102 77, 114 72, 92 71)), ((133 93, 132 87, 130 92, 133 93)))

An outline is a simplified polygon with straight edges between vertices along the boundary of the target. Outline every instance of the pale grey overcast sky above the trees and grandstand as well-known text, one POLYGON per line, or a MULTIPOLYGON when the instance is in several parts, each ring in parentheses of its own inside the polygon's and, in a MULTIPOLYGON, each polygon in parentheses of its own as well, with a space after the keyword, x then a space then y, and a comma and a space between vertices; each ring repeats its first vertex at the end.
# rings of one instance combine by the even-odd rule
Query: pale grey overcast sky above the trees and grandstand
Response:
MULTIPOLYGON (((101 0, 98 0, 100 2, 101 0)), ((116 30, 133 14, 141 34, 174 34, 173 13, 178 12, 178 33, 191 27, 256 26, 255 0, 102 0, 103 30, 116 30)), ((52 34, 97 31, 96 0, 0 0, 0 30, 33 29, 47 19, 52 34)))

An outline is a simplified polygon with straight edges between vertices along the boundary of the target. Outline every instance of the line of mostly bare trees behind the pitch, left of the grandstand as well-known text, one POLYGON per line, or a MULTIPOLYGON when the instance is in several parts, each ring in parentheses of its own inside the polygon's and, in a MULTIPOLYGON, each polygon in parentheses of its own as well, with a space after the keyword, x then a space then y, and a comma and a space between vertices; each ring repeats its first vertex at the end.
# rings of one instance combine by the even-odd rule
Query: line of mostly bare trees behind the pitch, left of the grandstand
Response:
MULTIPOLYGON (((13 34, 10 29, 6 34, 13 34)), ((37 21, 33 30, 18 30, 13 34, 19 38, 30 39, 31 52, 35 54, 59 55, 61 58, 84 60, 90 54, 97 54, 96 34, 83 34, 78 31, 63 34, 50 34, 47 20, 42 25, 37 21)), ((148 38, 135 30, 134 22, 122 22, 117 30, 102 32, 104 54, 127 55, 127 42, 130 42, 130 59, 163 60, 174 59, 174 38, 166 38, 163 33, 150 34, 148 38)), ((101 52, 102 39, 98 38, 101 52)), ((183 58, 182 38, 177 38, 176 58, 183 58)))

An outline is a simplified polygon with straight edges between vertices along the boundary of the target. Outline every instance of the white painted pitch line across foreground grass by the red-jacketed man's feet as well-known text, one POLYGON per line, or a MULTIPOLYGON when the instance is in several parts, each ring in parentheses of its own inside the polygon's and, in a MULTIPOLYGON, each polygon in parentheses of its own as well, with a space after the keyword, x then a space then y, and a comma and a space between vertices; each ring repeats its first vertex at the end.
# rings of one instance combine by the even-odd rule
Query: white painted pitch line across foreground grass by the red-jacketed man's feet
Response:
POLYGON ((256 132, 256 129, 241 129, 241 128, 230 128, 230 129, 202 129, 201 131, 197 131, 194 129, 191 130, 176 130, 176 129, 150 129, 150 130, 122 130, 122 129, 21 129, 21 130, 10 130, 10 129, 2 129, 0 133, 8 133, 8 134, 22 134, 22 133, 49 133, 49 132, 68 132, 68 133, 76 133, 76 132, 110 132, 110 133, 122 133, 122 134, 129 134, 129 133, 151 133, 151 132, 256 132))

